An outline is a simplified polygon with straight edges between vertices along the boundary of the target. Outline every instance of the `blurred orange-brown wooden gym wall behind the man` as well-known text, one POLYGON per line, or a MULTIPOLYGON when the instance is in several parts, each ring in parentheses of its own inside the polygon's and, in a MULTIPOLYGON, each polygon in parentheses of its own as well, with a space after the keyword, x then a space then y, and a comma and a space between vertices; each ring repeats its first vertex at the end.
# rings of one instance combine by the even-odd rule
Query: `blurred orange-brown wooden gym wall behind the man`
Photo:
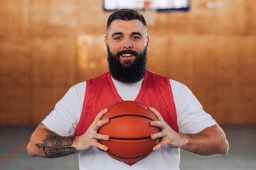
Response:
MULTIPOLYGON (((191 1, 148 27, 148 68, 186 84, 221 125, 256 125, 256 1, 191 1)), ((0 0, 0 125, 36 125, 107 71, 102 1, 0 0)))

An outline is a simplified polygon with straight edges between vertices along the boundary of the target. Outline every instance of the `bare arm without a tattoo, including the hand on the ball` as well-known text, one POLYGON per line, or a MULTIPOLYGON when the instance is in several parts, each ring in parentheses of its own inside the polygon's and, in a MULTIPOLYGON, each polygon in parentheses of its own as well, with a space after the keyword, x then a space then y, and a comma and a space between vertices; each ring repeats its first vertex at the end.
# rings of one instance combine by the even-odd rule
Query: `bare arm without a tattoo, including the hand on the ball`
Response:
POLYGON ((155 113, 159 121, 152 121, 151 125, 161 128, 161 132, 152 134, 151 138, 156 139, 162 137, 161 142, 153 148, 158 150, 164 145, 178 148, 181 147, 188 152, 201 155, 227 154, 229 144, 226 140, 225 133, 218 125, 206 128, 198 134, 181 134, 177 133, 164 122, 160 113, 154 108, 150 108, 155 113))

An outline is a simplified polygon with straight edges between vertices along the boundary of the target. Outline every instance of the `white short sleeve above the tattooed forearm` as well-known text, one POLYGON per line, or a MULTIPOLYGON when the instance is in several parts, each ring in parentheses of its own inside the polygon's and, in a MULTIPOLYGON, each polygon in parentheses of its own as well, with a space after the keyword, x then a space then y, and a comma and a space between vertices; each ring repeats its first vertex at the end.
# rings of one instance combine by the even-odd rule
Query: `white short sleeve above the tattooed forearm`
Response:
POLYGON ((73 135, 82 113, 85 88, 86 82, 76 84, 70 88, 42 123, 58 135, 73 135))

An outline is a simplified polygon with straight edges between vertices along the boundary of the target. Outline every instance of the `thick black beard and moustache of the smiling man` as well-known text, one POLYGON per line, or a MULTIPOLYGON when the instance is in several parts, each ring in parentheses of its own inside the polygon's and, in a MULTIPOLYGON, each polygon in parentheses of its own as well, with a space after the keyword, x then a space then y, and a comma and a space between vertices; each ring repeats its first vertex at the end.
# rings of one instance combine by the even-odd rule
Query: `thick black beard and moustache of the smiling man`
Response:
POLYGON ((146 72, 146 50, 145 47, 143 52, 139 54, 133 50, 123 50, 114 55, 110 52, 110 48, 107 47, 107 61, 111 76, 115 80, 126 84, 132 84, 143 79, 146 72), (134 55, 135 60, 134 62, 127 60, 122 64, 119 57, 127 53, 134 55))

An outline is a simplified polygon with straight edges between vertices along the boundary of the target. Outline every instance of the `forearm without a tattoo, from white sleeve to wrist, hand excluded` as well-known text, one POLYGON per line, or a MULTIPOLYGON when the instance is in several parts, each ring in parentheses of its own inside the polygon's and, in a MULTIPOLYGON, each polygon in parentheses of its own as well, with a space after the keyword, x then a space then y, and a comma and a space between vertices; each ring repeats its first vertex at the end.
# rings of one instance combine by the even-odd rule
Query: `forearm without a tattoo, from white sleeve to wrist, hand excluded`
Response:
POLYGON ((181 134, 183 146, 188 152, 200 155, 226 154, 229 144, 218 125, 206 128, 198 134, 181 134))

